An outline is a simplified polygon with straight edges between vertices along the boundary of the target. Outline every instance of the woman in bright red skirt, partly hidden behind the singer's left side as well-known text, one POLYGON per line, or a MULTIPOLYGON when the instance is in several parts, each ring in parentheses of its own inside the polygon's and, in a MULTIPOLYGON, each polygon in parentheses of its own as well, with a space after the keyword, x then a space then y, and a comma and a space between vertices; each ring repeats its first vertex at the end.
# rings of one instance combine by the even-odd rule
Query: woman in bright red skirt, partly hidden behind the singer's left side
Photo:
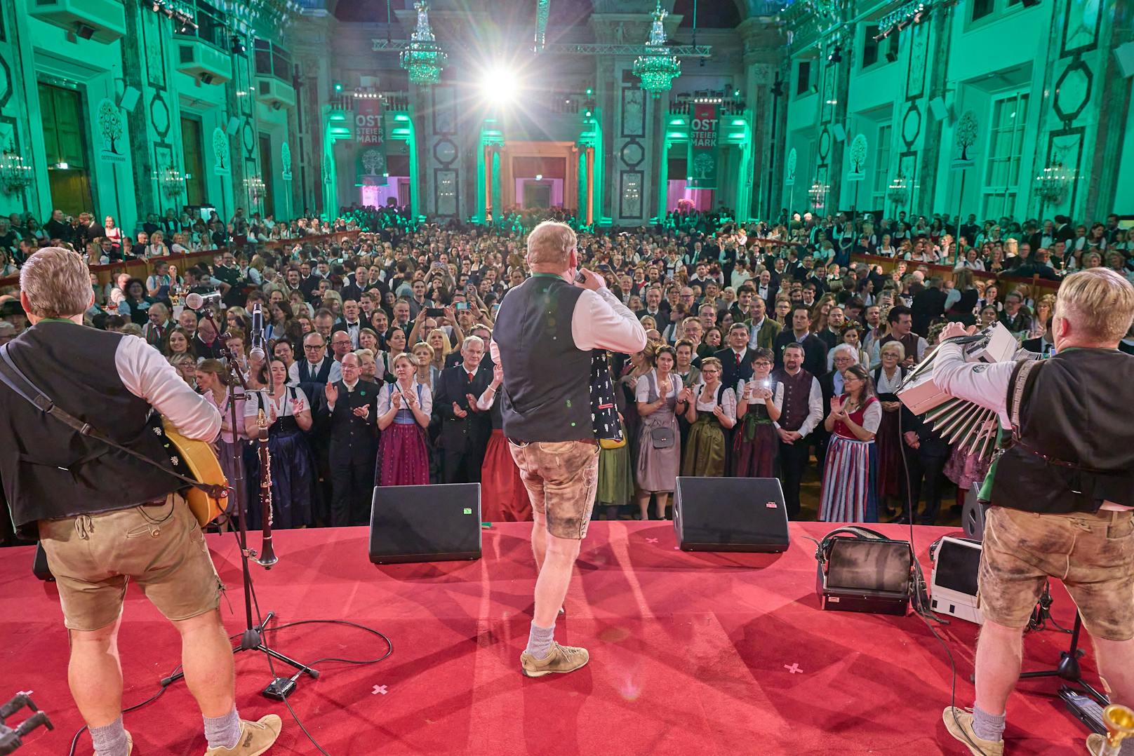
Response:
MULTIPOLYGON (((417 347, 414 347, 415 354, 417 347)), ((485 523, 523 523, 532 519, 532 500, 527 498, 519 468, 508 450, 508 440, 503 438, 498 393, 502 382, 503 368, 497 363, 492 366, 492 382, 476 400, 476 408, 489 413, 492 418, 492 435, 481 464, 481 519, 485 523)))

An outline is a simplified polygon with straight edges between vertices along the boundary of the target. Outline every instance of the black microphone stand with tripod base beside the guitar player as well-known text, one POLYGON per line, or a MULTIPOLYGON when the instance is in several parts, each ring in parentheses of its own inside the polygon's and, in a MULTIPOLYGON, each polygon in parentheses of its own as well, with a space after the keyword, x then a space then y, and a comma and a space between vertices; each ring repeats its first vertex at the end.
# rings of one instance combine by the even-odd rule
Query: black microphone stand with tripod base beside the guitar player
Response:
MULTIPOLYGON (((238 654, 242 651, 260 651, 270 656, 271 659, 278 659, 285 664, 290 664, 298 670, 293 678, 281 678, 274 677, 272 681, 264 688, 263 694, 269 698, 274 698, 277 700, 284 700, 285 697, 290 695, 295 690, 295 681, 299 674, 310 674, 313 679, 319 677, 319 670, 311 668, 303 662, 298 662, 290 656, 286 656, 280 652, 268 646, 264 642, 264 630, 268 625, 276 618, 276 612, 270 611, 263 617, 260 625, 253 623, 252 617, 252 570, 248 567, 249 561, 254 560, 257 554, 255 550, 248 549, 248 528, 247 528, 247 507, 244 506, 244 460, 242 459, 243 447, 239 443, 239 426, 237 425, 236 417, 236 389, 239 388, 247 394, 248 383, 244 380, 244 375, 240 373, 240 367, 236 364, 236 355, 232 350, 228 348, 226 341, 228 333, 221 333, 220 329, 217 328, 217 321, 213 320, 212 306, 206 305, 201 309, 201 315, 204 320, 209 321, 213 330, 219 334, 217 338, 221 342, 220 352, 225 357, 225 364, 228 367, 229 375, 229 397, 228 397, 228 414, 229 423, 232 428, 232 469, 236 470, 234 479, 229 481, 229 489, 232 495, 236 496, 236 520, 237 520, 237 541, 240 544, 240 572, 244 580, 244 632, 240 635, 240 643, 232 646, 232 653, 238 654)), ((269 375, 271 374, 271 366, 269 365, 269 375)), ((244 418, 239 418, 242 422, 244 418)), ((263 475, 264 473, 261 473, 263 475)), ((266 569, 271 569, 268 567, 266 569)), ((259 608, 257 608, 259 611, 259 608)), ((269 665, 271 664, 271 659, 269 660, 269 665)), ((272 672, 274 674, 274 671, 272 672)), ((185 672, 178 672, 168 679, 169 682, 174 682, 180 678, 185 677, 185 672)), ((162 680, 164 683, 166 680, 162 680)))

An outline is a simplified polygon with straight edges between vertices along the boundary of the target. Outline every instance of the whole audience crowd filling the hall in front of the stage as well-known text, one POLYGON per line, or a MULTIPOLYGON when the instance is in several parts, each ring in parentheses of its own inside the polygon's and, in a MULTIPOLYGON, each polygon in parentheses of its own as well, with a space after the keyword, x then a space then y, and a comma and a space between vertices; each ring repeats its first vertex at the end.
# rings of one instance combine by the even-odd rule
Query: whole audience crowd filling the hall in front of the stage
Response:
MULTIPOLYGON (((480 482, 484 520, 531 517, 501 435, 507 387, 490 345, 541 220, 578 231, 585 265, 649 334, 642 352, 609 360, 628 443, 600 452, 599 518, 667 517, 678 475, 780 477, 799 518, 814 468, 821 519, 932 524, 950 486, 983 474, 897 400, 943 324, 1000 322, 1048 356, 1060 277, 1106 265, 1134 278, 1134 241, 1117 215, 729 216, 683 207, 652 227, 593 229, 562 210, 509 209, 475 226, 404 207, 353 206, 332 221, 238 209, 227 222, 151 214, 127 233, 86 212, 54 211, 42 224, 12 214, 0 219, 0 279, 49 245, 111 271, 145 260, 144 278, 100 282, 107 269, 92 271, 87 322, 144 339, 221 408, 215 448, 253 504, 249 440, 266 428, 276 526, 305 527, 366 523, 375 484, 480 482), (187 294, 213 291, 215 323, 185 307, 187 294)), ((0 343, 27 328, 9 283, 0 343)), ((1134 351, 1134 334, 1123 349, 1134 351)), ((259 508, 248 509, 255 527, 259 508)))

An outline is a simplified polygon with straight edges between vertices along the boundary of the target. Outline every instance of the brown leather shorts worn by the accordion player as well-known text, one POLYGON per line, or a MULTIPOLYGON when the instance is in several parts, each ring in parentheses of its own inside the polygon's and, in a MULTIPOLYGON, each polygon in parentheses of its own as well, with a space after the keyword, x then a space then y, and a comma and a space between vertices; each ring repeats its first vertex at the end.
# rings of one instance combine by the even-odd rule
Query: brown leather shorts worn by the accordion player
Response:
POLYGON ((990 507, 978 580, 984 617, 1024 627, 1049 577, 1063 580, 1091 635, 1134 638, 1134 512, 990 507))

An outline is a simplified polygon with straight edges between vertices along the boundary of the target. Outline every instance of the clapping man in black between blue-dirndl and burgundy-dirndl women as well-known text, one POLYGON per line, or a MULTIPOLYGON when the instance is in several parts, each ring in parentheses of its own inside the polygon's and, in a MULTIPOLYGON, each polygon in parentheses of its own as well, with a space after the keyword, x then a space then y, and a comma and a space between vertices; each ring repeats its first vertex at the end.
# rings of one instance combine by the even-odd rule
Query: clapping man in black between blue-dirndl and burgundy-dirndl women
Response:
POLYGON ((328 425, 331 526, 364 525, 374 487, 378 456, 378 385, 362 380, 358 357, 339 363, 341 381, 329 381, 320 415, 328 425))

